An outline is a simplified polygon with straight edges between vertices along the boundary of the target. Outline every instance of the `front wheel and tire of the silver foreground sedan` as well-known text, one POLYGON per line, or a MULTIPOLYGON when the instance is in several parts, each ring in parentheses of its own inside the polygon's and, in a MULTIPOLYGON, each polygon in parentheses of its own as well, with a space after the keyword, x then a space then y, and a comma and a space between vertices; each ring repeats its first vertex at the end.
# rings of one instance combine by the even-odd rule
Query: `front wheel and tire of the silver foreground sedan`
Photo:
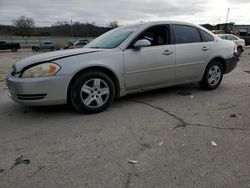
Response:
POLYGON ((69 97, 76 111, 86 114, 98 113, 112 104, 115 85, 103 72, 85 72, 74 80, 69 97))

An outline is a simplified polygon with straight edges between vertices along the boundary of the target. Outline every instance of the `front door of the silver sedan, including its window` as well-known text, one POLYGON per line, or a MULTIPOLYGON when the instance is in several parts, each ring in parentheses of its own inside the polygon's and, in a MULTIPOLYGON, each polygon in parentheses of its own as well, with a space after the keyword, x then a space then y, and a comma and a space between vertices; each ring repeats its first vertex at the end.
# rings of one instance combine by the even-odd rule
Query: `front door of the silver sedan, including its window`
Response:
POLYGON ((124 51, 127 89, 171 83, 175 78, 175 46, 168 25, 153 26, 142 32, 124 51), (151 46, 135 49, 134 43, 147 39, 151 46))

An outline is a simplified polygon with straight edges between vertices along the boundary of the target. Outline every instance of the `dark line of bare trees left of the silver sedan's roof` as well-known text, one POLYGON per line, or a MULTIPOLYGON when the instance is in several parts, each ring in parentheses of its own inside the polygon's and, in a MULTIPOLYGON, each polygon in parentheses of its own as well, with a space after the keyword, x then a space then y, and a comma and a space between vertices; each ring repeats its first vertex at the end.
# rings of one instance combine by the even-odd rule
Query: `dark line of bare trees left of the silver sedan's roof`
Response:
POLYGON ((0 35, 97 37, 118 26, 117 21, 110 22, 106 27, 97 26, 94 22, 62 21, 50 27, 37 27, 34 19, 21 16, 12 20, 12 25, 0 25, 0 35))

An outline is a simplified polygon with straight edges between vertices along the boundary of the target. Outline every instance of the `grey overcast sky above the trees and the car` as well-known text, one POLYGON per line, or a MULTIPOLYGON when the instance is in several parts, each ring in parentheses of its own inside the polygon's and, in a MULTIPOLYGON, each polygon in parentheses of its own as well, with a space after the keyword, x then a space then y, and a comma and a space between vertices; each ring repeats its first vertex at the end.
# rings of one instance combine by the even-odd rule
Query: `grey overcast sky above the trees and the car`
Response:
POLYGON ((141 21, 178 20, 196 24, 226 21, 250 24, 250 0, 0 0, 0 24, 26 16, 38 26, 56 21, 95 22, 105 26, 141 21))

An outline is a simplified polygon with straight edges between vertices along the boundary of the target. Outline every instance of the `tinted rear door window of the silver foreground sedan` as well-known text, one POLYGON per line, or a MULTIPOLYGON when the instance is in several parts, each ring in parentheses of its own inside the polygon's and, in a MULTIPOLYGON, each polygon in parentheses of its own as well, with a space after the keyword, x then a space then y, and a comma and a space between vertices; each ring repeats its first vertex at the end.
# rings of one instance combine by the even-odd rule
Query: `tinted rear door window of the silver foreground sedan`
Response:
POLYGON ((201 36, 195 27, 186 25, 174 25, 176 44, 201 42, 201 36))

